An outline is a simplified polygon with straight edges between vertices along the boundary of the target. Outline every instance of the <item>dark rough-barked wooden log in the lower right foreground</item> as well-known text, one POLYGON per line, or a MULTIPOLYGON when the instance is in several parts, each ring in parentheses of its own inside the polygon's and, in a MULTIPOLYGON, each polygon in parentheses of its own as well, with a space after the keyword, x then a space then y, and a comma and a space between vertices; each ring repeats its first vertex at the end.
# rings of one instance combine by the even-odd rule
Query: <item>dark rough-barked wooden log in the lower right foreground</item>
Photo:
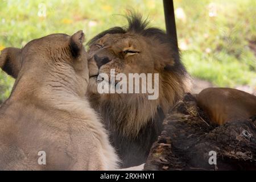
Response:
POLYGON ((167 114, 144 166, 144 170, 232 169, 256 170, 255 119, 213 125, 191 94, 167 114), (216 164, 209 164, 210 151, 216 152, 216 164))

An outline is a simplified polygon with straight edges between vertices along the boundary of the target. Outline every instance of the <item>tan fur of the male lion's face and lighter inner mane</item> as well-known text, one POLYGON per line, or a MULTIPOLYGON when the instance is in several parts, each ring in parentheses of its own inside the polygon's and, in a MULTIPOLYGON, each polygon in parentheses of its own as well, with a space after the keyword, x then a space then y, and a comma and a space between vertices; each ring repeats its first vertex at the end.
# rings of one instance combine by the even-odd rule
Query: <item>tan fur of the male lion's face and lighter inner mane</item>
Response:
POLYGON ((96 40, 89 49, 90 81, 88 95, 92 106, 100 113, 109 110, 111 127, 122 135, 135 138, 151 118, 155 117, 157 107, 164 113, 172 108, 185 92, 189 92, 191 81, 188 74, 183 76, 165 71, 166 65, 174 65, 172 51, 167 44, 157 39, 147 38, 135 32, 126 34, 106 34, 96 40), (102 48, 100 48, 103 46, 102 48), (123 50, 131 49, 139 53, 120 55, 123 50), (111 61, 98 69, 94 55, 107 56, 111 61), (99 73, 159 73, 159 98, 148 100, 147 94, 98 94, 97 78, 99 73), (93 77, 94 76, 94 77, 93 77), (108 102, 108 107, 105 107, 108 102), (125 119, 124 119, 125 118, 125 119))

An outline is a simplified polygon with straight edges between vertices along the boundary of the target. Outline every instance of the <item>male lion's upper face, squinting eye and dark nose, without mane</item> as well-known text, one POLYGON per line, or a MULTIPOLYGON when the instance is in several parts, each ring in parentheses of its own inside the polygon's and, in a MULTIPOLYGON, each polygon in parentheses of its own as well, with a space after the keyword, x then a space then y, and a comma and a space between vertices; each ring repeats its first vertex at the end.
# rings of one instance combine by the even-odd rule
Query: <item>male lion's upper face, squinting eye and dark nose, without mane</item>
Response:
POLYGON ((154 57, 150 40, 134 34, 107 34, 90 48, 89 75, 118 73, 152 73, 154 57))

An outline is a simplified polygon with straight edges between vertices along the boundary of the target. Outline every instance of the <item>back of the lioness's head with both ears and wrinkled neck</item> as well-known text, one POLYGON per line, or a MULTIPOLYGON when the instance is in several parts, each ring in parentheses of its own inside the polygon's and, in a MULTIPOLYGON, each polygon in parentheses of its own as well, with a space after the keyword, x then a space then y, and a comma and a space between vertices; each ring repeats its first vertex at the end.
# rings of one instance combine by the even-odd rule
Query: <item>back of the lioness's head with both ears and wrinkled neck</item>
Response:
POLYGON ((82 31, 72 36, 44 36, 32 40, 21 49, 3 49, 0 67, 16 78, 13 90, 16 86, 20 87, 22 92, 19 92, 19 97, 27 93, 37 94, 36 90, 40 88, 67 89, 67 92, 83 97, 89 80, 88 59, 83 42, 82 31))

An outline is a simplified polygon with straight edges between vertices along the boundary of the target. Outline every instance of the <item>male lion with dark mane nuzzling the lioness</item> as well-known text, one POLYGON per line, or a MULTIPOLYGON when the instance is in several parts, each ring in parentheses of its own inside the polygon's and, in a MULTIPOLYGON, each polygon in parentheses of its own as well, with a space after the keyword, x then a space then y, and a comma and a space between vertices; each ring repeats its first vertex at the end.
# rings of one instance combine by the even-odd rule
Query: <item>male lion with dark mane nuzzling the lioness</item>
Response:
POLYGON ((104 119, 123 167, 146 161, 162 131, 164 114, 191 85, 172 39, 164 31, 148 27, 141 15, 127 16, 127 20, 127 28, 110 28, 88 43, 89 100, 104 119), (159 73, 159 97, 148 100, 147 94, 141 93, 98 93, 97 77, 110 75, 110 69, 125 75, 159 73))

